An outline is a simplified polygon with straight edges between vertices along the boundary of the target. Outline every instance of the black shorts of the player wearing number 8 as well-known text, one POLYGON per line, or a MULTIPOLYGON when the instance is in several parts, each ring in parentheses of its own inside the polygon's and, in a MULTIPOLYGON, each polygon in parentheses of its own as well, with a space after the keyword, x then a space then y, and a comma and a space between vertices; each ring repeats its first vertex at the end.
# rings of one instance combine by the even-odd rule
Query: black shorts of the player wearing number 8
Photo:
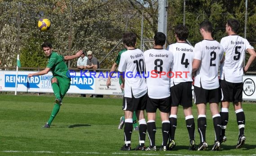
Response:
POLYGON ((147 97, 147 113, 156 113, 157 108, 159 108, 160 112, 170 113, 171 110, 171 96, 163 99, 151 99, 147 97))

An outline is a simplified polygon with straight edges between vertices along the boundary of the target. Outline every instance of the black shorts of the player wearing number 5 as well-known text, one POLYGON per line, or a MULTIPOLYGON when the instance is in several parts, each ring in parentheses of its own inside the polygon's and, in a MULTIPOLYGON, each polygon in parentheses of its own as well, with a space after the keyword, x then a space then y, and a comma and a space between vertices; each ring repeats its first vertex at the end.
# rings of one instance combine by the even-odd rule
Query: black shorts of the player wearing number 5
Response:
POLYGON ((242 102, 243 101, 243 82, 232 83, 221 80, 221 101, 242 102))

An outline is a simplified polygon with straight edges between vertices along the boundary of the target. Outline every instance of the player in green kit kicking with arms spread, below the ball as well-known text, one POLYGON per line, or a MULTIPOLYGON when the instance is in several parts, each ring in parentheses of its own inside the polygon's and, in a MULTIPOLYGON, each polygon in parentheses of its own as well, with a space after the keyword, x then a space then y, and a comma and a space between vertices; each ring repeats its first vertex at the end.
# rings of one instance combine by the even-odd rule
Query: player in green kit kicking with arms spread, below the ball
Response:
POLYGON ((49 57, 48 64, 46 68, 37 73, 28 74, 28 77, 36 76, 36 75, 44 75, 47 74, 50 70, 53 73, 53 78, 51 79, 53 93, 55 95, 55 104, 53 107, 52 114, 48 120, 48 122, 44 125, 44 128, 49 128, 54 117, 56 117, 59 112, 60 106, 62 105, 62 99, 64 98, 66 92, 70 87, 71 78, 68 77, 68 68, 65 64, 65 61, 72 60, 74 58, 79 57, 83 51, 80 50, 75 55, 72 56, 62 56, 57 52, 53 52, 53 46, 49 42, 44 42, 42 44, 42 48, 44 54, 49 57))

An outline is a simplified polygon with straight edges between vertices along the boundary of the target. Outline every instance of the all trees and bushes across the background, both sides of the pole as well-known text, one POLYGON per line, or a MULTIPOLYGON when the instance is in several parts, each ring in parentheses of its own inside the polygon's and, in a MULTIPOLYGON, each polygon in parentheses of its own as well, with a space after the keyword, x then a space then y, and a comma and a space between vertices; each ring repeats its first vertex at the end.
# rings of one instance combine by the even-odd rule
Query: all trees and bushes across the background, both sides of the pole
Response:
MULTIPOLYGON (((184 0, 168 0, 168 44, 175 42, 174 26, 183 24, 183 4, 184 0)), ((247 39, 254 46, 255 6, 253 0, 248 0, 247 39)), ((99 61, 119 42, 124 31, 133 31, 138 35, 137 48, 140 48, 142 14, 143 38, 152 39, 158 28, 158 0, 0 0, 2 66, 15 67, 19 52, 23 67, 45 67, 47 59, 40 47, 44 40, 52 42, 53 49, 63 55, 73 54, 80 49, 85 52, 91 50, 99 61), (50 19, 50 30, 38 30, 40 18, 50 19)), ((225 36, 225 22, 231 17, 241 22, 239 35, 244 36, 244 0, 234 0, 232 3, 225 0, 186 0, 185 25, 190 30, 188 40, 194 45, 202 39, 199 23, 208 19, 214 25, 213 37, 220 41, 225 36)), ((101 68, 110 68, 122 48, 120 43, 102 61, 101 68)), ((75 67, 75 64, 76 60, 71 62, 71 67, 75 67)))

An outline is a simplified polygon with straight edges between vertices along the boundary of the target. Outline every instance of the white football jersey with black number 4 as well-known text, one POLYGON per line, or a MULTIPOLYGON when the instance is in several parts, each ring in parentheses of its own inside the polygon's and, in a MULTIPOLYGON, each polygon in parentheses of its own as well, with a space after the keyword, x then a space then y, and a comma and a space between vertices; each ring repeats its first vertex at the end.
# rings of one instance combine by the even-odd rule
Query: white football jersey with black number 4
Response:
POLYGON ((173 66, 171 87, 181 82, 192 82, 192 64, 194 60, 194 47, 188 43, 174 43, 167 47, 172 52, 173 66))

